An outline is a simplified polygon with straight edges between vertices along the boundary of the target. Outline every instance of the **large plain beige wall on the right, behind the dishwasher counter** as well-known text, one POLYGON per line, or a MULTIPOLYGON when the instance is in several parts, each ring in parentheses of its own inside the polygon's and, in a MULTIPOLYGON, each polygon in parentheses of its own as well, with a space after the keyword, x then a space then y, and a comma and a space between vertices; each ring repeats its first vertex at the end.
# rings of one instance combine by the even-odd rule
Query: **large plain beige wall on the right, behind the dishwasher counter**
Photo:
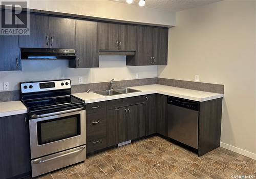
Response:
MULTIPOLYGON (((221 142, 256 154, 255 1, 223 1, 176 14, 162 78, 225 85, 221 142)), ((253 155, 253 154, 252 154, 253 155)), ((255 156, 255 155, 254 155, 255 156)))

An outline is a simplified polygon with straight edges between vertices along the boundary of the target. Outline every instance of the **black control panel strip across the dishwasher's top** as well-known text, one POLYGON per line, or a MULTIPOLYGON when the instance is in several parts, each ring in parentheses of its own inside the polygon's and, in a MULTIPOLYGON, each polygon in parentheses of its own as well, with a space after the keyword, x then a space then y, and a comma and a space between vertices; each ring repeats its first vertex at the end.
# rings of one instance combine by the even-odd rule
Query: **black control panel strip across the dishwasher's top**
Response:
POLYGON ((197 111, 199 110, 199 102, 182 99, 182 98, 168 97, 167 104, 185 107, 185 108, 197 110, 197 111))

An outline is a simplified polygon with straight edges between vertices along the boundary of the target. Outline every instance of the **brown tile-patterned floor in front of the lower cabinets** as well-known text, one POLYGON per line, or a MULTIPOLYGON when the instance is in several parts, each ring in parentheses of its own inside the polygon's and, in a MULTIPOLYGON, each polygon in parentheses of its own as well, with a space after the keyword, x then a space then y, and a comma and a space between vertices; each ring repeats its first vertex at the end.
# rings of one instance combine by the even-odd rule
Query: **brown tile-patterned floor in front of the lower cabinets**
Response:
POLYGON ((83 163, 40 178, 210 179, 231 175, 256 175, 256 161, 221 147, 198 157, 160 137, 152 137, 90 156, 83 163))

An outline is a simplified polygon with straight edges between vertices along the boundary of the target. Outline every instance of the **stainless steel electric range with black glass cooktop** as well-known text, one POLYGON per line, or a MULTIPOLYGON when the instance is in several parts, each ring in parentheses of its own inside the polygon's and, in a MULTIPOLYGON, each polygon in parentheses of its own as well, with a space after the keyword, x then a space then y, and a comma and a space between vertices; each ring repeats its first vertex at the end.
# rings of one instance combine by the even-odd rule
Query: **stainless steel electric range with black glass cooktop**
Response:
POLYGON ((86 110, 71 81, 20 83, 28 108, 32 177, 86 160, 86 110))

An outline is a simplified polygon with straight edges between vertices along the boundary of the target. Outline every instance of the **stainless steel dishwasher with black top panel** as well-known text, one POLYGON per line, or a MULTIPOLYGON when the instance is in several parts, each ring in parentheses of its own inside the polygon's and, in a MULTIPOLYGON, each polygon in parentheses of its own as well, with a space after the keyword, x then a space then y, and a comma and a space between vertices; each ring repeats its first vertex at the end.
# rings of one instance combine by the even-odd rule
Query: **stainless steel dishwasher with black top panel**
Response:
POLYGON ((168 137, 198 149, 199 102, 168 97, 168 137))

